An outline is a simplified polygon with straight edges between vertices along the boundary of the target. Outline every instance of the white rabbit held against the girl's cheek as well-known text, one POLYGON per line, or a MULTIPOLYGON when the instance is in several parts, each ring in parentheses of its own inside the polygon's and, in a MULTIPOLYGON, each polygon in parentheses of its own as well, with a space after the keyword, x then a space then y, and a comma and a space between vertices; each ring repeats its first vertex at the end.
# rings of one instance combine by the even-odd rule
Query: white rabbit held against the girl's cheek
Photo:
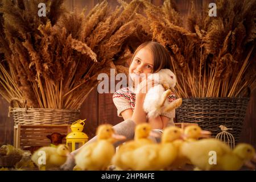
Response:
POLYGON ((155 82, 155 86, 148 90, 143 103, 148 118, 156 118, 161 113, 172 111, 181 105, 181 98, 171 103, 166 99, 171 94, 170 89, 174 90, 176 85, 176 76, 170 69, 161 69, 158 73, 148 76, 148 79, 155 82))

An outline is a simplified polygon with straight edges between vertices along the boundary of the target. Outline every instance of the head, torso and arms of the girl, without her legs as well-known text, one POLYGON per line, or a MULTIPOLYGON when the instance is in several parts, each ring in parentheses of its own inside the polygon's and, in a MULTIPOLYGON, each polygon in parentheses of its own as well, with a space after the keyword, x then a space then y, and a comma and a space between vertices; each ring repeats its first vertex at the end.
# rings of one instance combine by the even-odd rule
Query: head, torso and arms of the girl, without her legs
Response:
MULTIPOLYGON (((164 129, 167 125, 174 125, 175 111, 172 113, 162 113, 156 118, 146 118, 146 113, 143 110, 143 102, 146 93, 143 90, 148 90, 150 86, 154 86, 154 81, 147 80, 148 73, 156 73, 160 69, 171 69, 170 55, 166 49, 157 42, 146 42, 141 44, 134 52, 131 58, 129 74, 137 88, 137 94, 133 92, 133 88, 127 87, 118 90, 113 95, 113 102, 117 107, 117 114, 123 119, 131 119, 136 124, 148 122, 152 129, 164 129), (140 75, 146 77, 140 77, 140 75), (139 78, 139 82, 135 78, 139 78), (136 85, 137 84, 137 85, 136 85), (147 88, 145 89, 145 87, 147 88), (148 120, 148 121, 147 121, 148 120)), ((168 100, 174 101, 175 95, 171 94, 168 100)))

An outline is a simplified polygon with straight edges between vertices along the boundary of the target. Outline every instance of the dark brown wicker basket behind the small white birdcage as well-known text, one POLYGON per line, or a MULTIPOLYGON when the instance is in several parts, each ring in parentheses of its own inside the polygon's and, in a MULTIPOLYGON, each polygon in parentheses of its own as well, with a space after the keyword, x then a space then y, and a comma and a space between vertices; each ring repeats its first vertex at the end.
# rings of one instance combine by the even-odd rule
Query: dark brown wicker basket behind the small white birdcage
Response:
POLYGON ((232 128, 230 133, 238 142, 249 97, 246 98, 184 98, 176 109, 177 122, 197 123, 215 137, 220 125, 232 128))

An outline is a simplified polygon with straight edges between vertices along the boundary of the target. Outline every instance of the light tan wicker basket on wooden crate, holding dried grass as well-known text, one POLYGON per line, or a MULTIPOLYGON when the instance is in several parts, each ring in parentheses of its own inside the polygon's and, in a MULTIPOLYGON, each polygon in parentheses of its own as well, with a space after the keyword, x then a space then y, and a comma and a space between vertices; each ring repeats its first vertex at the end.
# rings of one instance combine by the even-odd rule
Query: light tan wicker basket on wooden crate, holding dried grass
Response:
POLYGON ((64 125, 79 119, 80 110, 11 108, 14 125, 64 125))

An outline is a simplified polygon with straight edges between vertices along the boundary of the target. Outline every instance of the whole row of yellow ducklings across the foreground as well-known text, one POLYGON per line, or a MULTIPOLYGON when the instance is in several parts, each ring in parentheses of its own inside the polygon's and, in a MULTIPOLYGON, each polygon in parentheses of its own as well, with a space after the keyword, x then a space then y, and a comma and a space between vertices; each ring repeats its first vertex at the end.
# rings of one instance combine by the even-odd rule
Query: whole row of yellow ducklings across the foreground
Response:
MULTIPOLYGON (((170 170, 192 164, 200 170, 239 170, 242 166, 254 167, 256 162, 254 147, 238 144, 232 150, 227 144, 213 138, 205 138, 208 131, 199 126, 187 126, 184 131, 170 126, 164 129, 160 143, 148 137, 152 134, 150 125, 143 123, 135 128, 134 140, 123 143, 115 150, 113 143, 124 139, 116 135, 112 125, 101 125, 97 129, 97 142, 87 144, 75 156, 76 169, 107 170, 113 165, 121 170, 170 170), (216 163, 209 162, 211 151, 216 154, 216 163)), ((61 166, 65 163, 69 150, 61 144, 57 148, 43 147, 32 155, 32 160, 40 169, 61 166), (39 151, 46 152, 46 163, 38 163, 39 151)))

